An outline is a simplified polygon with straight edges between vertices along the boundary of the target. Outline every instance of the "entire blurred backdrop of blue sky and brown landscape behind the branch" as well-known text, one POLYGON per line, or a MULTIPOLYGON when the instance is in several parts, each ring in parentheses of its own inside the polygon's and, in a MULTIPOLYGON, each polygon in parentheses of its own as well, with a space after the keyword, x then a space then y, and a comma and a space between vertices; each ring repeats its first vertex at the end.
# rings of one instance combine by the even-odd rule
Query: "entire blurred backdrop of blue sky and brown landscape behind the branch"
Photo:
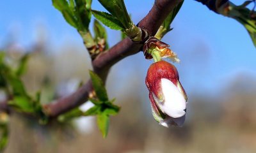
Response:
MULTIPOLYGON (((125 1, 134 23, 153 3, 125 1)), ((92 66, 83 41, 50 0, 1 1, 0 6, 1 50, 13 59, 31 52, 22 77, 29 93, 42 91, 42 103, 49 103, 88 80, 92 66)), ((104 10, 97 1, 92 8, 104 10)), ((13 114, 5 152, 255 152, 256 51, 246 29, 196 1, 184 2, 172 27, 163 41, 181 61, 175 66, 188 94, 184 127, 164 128, 153 119, 145 85, 153 61, 140 52, 109 73, 109 97, 122 109, 111 117, 107 138, 102 138, 95 117, 40 126, 13 114)), ((120 32, 110 29, 108 36, 110 46, 121 39, 120 32)))

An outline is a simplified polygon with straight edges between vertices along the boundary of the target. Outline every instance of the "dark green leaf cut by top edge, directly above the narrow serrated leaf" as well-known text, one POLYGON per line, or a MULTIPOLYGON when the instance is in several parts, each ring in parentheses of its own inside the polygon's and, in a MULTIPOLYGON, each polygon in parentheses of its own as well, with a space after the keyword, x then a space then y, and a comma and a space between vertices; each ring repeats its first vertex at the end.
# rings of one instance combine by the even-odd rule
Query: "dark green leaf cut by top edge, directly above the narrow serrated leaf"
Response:
POLYGON ((99 2, 111 13, 114 17, 122 23, 125 29, 130 29, 133 22, 127 13, 124 0, 99 0, 99 2))

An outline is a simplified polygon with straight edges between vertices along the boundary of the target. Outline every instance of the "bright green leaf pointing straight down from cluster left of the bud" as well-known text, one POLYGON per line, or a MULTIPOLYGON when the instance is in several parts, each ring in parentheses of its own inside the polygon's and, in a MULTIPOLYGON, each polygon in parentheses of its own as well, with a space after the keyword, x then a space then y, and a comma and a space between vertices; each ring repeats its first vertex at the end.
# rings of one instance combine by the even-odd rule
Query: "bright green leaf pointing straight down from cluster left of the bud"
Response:
POLYGON ((109 116, 106 115, 106 113, 101 113, 97 115, 97 124, 103 138, 106 138, 106 136, 108 135, 109 116))

